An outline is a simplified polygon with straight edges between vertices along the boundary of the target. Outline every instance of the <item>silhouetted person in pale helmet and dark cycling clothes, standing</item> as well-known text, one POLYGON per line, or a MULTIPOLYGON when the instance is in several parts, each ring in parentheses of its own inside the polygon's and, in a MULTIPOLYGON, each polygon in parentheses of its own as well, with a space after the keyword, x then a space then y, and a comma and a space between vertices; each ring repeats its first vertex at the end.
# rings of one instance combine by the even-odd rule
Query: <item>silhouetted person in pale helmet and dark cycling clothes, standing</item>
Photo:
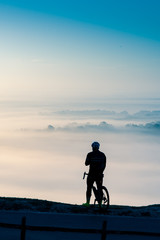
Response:
POLYGON ((89 206, 91 191, 94 182, 96 182, 99 192, 99 205, 102 200, 102 182, 103 171, 106 167, 106 156, 103 152, 99 151, 100 144, 98 142, 92 143, 92 152, 89 152, 86 157, 85 165, 89 166, 89 173, 87 177, 87 191, 86 191, 86 203, 83 205, 89 206))

